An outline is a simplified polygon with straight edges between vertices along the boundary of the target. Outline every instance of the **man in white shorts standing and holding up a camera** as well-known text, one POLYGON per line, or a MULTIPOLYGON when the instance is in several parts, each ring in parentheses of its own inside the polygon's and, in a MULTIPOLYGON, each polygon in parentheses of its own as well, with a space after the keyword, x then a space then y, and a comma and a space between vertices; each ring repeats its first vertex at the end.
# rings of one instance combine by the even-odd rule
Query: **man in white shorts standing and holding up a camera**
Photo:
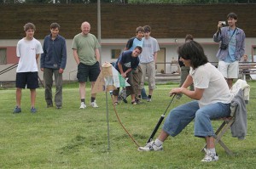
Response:
POLYGON ((227 15, 228 25, 224 21, 218 21, 218 31, 213 35, 214 42, 220 42, 218 53, 218 70, 223 74, 229 87, 232 87, 233 79, 238 78, 239 60, 245 50, 245 33, 237 27, 237 15, 227 15))

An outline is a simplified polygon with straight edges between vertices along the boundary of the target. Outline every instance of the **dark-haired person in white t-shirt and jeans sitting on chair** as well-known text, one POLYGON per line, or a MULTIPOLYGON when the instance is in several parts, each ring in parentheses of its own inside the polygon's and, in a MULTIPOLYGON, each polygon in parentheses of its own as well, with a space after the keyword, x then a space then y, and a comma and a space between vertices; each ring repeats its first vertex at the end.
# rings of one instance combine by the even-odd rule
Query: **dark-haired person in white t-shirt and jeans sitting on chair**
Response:
POLYGON ((139 147, 138 150, 162 150, 162 144, 169 135, 177 136, 194 120, 195 137, 205 138, 207 143, 207 154, 201 161, 218 161, 213 138, 215 132, 211 120, 230 115, 230 88, 224 76, 208 62, 198 42, 185 42, 177 49, 177 54, 184 65, 190 67, 190 71, 183 86, 172 88, 170 95, 183 93, 195 100, 172 109, 166 118, 160 136, 146 144, 145 147, 139 147), (193 82, 195 91, 190 91, 187 87, 193 82))

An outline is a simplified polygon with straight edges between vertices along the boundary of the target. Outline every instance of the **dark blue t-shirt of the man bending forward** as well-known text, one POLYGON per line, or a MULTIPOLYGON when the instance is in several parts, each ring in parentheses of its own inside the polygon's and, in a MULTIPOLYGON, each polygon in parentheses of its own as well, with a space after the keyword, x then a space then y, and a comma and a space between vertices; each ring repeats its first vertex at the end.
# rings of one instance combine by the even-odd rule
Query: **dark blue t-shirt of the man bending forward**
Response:
POLYGON ((129 50, 124 51, 122 54, 120 54, 119 59, 116 61, 116 64, 114 66, 115 69, 120 72, 118 63, 122 65, 124 72, 129 68, 136 69, 139 65, 140 60, 138 57, 132 57, 131 54, 132 51, 129 50))

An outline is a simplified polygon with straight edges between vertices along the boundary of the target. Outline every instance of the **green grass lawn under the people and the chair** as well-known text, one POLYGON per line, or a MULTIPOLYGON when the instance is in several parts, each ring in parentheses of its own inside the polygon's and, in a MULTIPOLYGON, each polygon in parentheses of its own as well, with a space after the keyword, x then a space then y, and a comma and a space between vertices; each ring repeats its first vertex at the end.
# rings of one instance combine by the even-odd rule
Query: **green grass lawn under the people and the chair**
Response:
MULTIPOLYGON (((38 113, 30 113, 30 92, 22 91, 22 113, 12 113, 15 107, 15 88, 0 90, 0 168, 255 168, 256 155, 256 82, 251 86, 247 105, 247 138, 238 140, 230 133, 224 136, 235 153, 226 155, 217 145, 219 161, 202 163, 204 144, 195 138, 194 123, 176 138, 168 138, 161 152, 138 152, 119 125, 108 94, 109 136, 105 93, 97 94, 98 109, 89 106, 87 94, 85 110, 79 110, 78 83, 63 87, 63 108, 45 108, 44 89, 37 90, 38 113)), ((90 86, 87 86, 90 93, 90 86)), ((119 104, 119 118, 138 144, 144 145, 155 124, 171 101, 168 93, 177 84, 158 85, 153 102, 139 105, 119 104)), ((128 99, 131 102, 130 98, 128 99)), ((187 97, 174 99, 169 110, 189 101, 187 97)), ((168 111, 169 111, 168 110, 168 111)), ((220 121, 212 121, 218 127, 220 121)), ((158 134, 157 134, 158 135, 158 134)))

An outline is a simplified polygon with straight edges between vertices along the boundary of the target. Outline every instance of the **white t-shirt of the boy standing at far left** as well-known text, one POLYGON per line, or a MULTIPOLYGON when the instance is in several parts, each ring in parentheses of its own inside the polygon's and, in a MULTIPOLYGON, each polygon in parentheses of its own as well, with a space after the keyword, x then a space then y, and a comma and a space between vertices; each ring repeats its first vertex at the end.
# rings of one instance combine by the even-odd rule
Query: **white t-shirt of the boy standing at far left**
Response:
POLYGON ((16 54, 19 57, 19 64, 16 72, 35 72, 38 71, 36 54, 43 54, 41 43, 33 38, 31 41, 22 38, 17 43, 16 54))

